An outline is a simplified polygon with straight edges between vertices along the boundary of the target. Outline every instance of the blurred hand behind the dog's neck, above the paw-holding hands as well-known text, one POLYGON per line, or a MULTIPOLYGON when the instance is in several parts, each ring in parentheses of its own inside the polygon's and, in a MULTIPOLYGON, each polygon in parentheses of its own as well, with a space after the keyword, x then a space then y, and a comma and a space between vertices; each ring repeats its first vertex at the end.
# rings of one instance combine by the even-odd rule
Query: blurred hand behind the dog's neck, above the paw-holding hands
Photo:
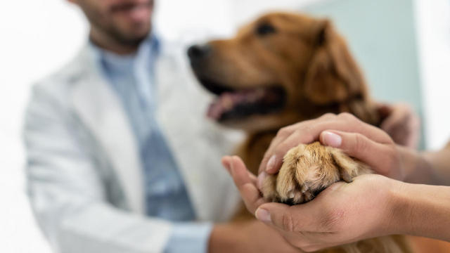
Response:
POLYGON ((420 137, 420 119, 410 105, 380 103, 378 112, 383 117, 380 128, 386 131, 395 143, 408 148, 417 148, 420 137))

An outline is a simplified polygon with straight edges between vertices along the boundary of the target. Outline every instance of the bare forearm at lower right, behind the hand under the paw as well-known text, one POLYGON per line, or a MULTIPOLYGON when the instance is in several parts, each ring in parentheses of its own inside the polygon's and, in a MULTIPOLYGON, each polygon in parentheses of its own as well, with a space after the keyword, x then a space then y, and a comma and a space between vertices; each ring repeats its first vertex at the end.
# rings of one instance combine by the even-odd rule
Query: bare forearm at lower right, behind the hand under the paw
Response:
POLYGON ((450 241, 450 187, 399 182, 398 189, 391 231, 450 241))

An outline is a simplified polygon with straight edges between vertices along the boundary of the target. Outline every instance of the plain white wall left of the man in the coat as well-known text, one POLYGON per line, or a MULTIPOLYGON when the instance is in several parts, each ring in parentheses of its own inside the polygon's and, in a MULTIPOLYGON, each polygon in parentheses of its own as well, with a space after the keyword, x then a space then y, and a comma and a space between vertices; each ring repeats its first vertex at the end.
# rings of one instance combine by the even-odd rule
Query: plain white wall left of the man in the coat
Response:
POLYGON ((0 252, 49 252, 25 197, 20 139, 30 84, 81 46, 86 24, 63 0, 0 1, 0 252))

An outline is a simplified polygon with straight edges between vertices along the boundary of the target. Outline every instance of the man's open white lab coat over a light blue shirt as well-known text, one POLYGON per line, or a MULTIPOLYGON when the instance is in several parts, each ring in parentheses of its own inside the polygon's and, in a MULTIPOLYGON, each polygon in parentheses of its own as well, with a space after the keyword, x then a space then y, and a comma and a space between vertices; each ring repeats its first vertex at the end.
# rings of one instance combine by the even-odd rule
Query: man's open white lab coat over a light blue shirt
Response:
MULTIPOLYGON (((224 221, 239 197, 220 158, 241 136, 205 119, 209 98, 195 84, 183 47, 163 42, 161 49, 157 119, 198 220, 224 221)), ((88 46, 34 86, 24 138, 32 209, 56 252, 164 249, 172 225, 143 215, 136 140, 88 46)))

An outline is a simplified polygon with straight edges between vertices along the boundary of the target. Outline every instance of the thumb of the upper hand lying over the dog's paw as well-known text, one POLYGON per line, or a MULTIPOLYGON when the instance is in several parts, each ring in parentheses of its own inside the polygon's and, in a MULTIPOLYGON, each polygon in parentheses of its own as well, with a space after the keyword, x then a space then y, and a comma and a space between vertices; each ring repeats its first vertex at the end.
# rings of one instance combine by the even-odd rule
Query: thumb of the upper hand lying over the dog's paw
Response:
POLYGON ((394 164, 394 145, 372 141, 359 133, 344 131, 323 131, 320 136, 323 145, 340 148, 347 155, 368 164, 378 174, 387 175, 394 164))

